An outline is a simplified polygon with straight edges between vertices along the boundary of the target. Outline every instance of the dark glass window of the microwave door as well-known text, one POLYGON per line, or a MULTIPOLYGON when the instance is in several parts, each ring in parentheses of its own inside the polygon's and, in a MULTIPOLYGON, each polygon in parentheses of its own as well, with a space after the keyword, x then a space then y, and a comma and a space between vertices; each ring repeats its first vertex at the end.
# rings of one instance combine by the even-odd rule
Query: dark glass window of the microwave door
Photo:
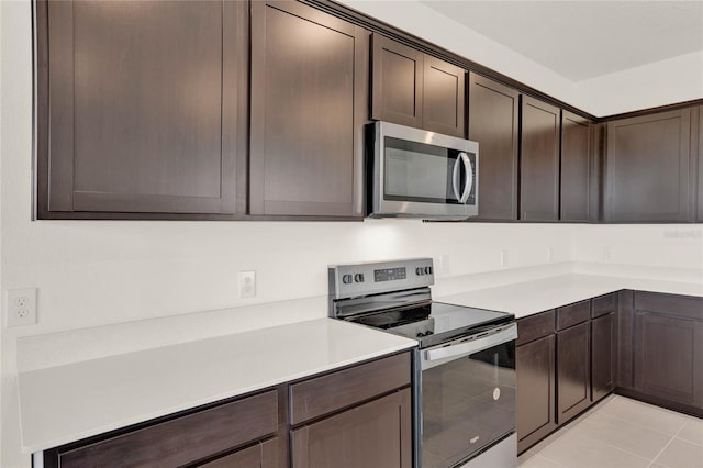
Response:
POLYGON ((460 152, 390 136, 384 145, 386 200, 459 204, 472 176, 457 160, 460 152))

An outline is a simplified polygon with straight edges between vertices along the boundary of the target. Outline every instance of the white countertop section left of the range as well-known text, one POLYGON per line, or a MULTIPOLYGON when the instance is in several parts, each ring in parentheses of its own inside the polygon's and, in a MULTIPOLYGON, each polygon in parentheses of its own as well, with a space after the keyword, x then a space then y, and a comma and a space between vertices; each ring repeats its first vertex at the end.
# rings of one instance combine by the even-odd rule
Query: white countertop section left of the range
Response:
POLYGON ((24 452, 37 452, 416 345, 332 319, 22 372, 24 452))

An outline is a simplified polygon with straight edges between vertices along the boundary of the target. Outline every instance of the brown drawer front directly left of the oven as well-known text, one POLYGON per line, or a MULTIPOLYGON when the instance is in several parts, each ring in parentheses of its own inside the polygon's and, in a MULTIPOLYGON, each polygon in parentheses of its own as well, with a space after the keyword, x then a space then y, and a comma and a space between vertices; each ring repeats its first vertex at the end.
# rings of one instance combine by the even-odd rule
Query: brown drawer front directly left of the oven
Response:
POLYGON ((291 424, 410 385, 410 353, 316 377, 290 387, 291 424))

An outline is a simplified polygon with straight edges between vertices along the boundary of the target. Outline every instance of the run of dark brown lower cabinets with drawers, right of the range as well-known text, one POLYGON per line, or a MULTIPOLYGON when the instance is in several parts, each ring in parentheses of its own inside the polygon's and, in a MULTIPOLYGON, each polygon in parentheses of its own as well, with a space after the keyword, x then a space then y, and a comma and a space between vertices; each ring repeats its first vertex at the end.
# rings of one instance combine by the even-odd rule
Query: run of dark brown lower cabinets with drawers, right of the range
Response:
POLYGON ((618 293, 517 321, 517 452, 613 391, 618 293))

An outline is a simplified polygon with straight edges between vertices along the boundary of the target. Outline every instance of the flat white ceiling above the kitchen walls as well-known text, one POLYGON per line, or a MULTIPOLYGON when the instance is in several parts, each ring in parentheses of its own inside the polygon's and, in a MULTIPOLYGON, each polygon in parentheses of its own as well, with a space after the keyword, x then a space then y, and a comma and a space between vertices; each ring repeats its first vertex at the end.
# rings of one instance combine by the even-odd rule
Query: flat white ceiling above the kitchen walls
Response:
POLYGON ((703 49, 702 0, 421 2, 573 82, 703 49))

